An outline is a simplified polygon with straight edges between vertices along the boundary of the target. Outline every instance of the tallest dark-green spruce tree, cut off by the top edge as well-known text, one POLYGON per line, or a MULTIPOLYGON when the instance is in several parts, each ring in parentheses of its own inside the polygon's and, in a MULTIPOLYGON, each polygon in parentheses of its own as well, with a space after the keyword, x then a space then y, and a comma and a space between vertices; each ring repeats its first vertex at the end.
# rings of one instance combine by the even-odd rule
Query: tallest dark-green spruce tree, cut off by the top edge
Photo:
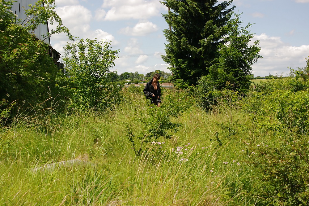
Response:
POLYGON ((164 0, 171 11, 163 14, 172 31, 165 29, 166 55, 163 60, 170 65, 173 80, 195 85, 208 68, 217 63, 218 45, 226 35, 227 22, 235 7, 233 0, 164 0))

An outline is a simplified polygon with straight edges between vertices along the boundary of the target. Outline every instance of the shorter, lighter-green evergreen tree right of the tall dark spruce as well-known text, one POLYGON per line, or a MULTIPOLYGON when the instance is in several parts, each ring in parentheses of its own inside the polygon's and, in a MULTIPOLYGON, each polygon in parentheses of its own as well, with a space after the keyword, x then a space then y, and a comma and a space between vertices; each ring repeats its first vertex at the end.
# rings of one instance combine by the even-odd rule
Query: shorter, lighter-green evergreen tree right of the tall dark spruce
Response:
POLYGON ((237 90, 241 93, 249 89, 252 79, 252 64, 263 58, 259 55, 259 41, 252 42, 253 33, 248 31, 252 24, 240 25, 241 14, 234 14, 229 21, 226 43, 219 45, 218 63, 209 68, 207 81, 217 89, 237 90))

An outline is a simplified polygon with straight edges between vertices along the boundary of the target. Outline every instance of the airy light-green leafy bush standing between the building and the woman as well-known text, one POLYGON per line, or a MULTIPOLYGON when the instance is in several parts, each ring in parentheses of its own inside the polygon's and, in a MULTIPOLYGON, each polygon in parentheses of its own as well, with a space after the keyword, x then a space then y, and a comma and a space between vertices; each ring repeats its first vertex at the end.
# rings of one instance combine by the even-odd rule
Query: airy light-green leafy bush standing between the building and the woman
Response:
POLYGON ((110 68, 118 50, 110 43, 78 39, 65 46, 65 73, 58 78, 59 87, 70 97, 68 107, 75 110, 107 108, 122 99, 121 86, 110 82, 110 68))

